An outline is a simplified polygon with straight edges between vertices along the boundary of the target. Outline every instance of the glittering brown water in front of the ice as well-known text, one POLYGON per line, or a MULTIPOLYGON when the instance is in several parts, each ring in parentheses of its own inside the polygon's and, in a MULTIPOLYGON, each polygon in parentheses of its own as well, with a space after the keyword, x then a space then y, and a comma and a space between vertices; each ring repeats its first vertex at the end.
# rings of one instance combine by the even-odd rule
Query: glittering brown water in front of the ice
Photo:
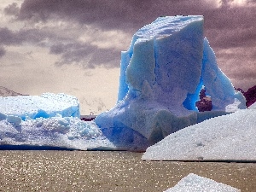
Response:
POLYGON ((110 151, 0 151, 0 191, 164 191, 189 173, 256 191, 256 164, 143 161, 110 151))

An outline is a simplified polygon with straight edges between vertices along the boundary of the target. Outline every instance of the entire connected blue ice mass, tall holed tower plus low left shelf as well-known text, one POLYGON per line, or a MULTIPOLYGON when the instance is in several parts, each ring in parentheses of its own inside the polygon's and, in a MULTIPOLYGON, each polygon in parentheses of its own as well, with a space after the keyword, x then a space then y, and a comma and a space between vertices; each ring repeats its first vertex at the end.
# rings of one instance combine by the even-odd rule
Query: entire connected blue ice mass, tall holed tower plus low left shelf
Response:
POLYGON ((184 127, 242 108, 244 97, 218 68, 203 36, 203 17, 160 17, 138 30, 121 53, 119 102, 110 111, 84 122, 73 96, 1 97, 0 148, 144 151, 184 127), (202 86, 213 108, 199 113, 195 102, 202 86))

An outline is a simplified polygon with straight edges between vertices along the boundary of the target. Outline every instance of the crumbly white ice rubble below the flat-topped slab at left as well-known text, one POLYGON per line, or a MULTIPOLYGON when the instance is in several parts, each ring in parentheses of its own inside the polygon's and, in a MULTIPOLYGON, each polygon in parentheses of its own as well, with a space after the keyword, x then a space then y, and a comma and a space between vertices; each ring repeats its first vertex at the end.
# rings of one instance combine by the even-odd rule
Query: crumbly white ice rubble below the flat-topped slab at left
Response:
MULTIPOLYGON (((0 121, 0 148, 6 146, 44 146, 72 149, 114 149, 102 136, 94 122, 77 117, 51 117, 26 119, 19 126, 0 121)), ((15 147, 13 147, 15 148, 15 147)))

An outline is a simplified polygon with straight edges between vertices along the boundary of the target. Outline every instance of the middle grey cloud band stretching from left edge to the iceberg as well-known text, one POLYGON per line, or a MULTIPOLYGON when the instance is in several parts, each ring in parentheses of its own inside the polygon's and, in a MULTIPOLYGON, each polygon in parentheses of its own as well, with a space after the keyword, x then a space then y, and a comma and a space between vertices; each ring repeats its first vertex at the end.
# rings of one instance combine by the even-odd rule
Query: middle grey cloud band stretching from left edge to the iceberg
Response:
MULTIPOLYGON (((96 66, 117 67, 119 66, 119 51, 113 49, 98 49, 90 44, 79 43, 72 37, 57 36, 54 29, 49 31, 38 29, 20 29, 14 32, 8 28, 0 28, 0 45, 21 45, 23 43, 38 44, 38 46, 48 46, 44 44, 45 39, 49 39, 49 54, 61 55, 60 61, 56 61, 57 66, 64 64, 79 64, 83 67, 93 68, 96 66)), ((5 49, 0 49, 0 56, 5 55, 5 49)))

